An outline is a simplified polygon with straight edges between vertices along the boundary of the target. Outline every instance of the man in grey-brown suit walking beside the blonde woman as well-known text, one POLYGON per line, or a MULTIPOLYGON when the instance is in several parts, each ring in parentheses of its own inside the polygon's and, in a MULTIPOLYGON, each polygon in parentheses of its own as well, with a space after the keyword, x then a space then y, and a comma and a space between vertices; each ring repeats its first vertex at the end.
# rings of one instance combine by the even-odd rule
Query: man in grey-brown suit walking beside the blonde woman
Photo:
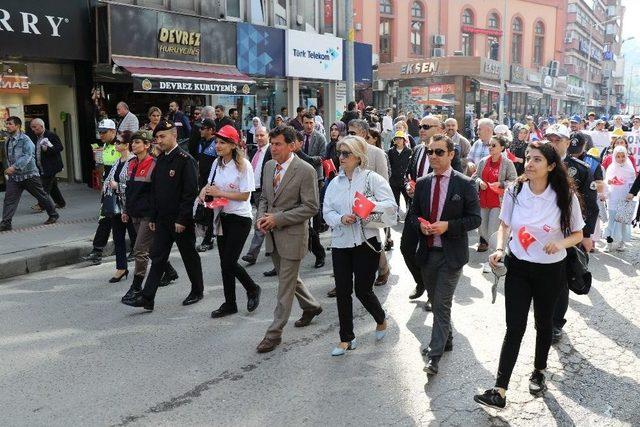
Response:
POLYGON ((264 165, 256 228, 266 234, 266 250, 271 253, 279 283, 273 323, 258 345, 258 353, 272 351, 282 342, 282 329, 289 320, 294 296, 302 308, 296 327, 309 325, 322 313, 298 275, 307 253, 307 221, 318 212, 316 172, 293 154, 296 134, 292 127, 276 127, 269 137, 273 160, 264 165))

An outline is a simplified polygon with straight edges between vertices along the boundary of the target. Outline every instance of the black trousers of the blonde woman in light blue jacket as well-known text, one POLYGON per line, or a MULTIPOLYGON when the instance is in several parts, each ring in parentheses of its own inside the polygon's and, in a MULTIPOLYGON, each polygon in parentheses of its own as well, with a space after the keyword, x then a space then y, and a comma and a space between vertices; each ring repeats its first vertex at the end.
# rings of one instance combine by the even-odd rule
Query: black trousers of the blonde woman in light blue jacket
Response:
MULTIPOLYGON (((369 243, 380 250, 380 243, 375 237, 369 239, 369 243)), ((355 338, 351 298, 354 288, 356 298, 373 316, 376 323, 379 325, 384 323, 385 312, 378 297, 373 293, 373 282, 376 279, 380 254, 374 252, 366 243, 362 243, 353 248, 332 248, 331 257, 336 282, 340 341, 349 342, 355 338)))

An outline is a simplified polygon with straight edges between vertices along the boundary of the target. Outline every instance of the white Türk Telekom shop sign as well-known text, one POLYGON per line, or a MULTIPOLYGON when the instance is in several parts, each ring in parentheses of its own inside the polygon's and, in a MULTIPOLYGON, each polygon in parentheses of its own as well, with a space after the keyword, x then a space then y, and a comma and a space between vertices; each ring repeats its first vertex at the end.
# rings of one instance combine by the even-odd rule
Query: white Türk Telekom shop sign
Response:
POLYGON ((342 80, 342 39, 287 30, 287 76, 342 80))

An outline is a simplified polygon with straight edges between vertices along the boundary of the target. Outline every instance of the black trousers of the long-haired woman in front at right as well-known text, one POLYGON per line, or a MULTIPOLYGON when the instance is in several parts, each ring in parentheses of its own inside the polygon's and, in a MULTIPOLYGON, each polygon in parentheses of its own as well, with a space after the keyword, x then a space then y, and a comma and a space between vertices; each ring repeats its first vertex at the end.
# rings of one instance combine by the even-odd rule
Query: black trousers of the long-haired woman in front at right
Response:
POLYGON ((509 386, 511 373, 518 359, 532 300, 536 325, 534 367, 538 370, 547 367, 553 330, 553 309, 562 287, 566 287, 564 260, 553 264, 537 264, 507 255, 505 265, 507 276, 504 285, 504 305, 507 332, 500 351, 496 378, 496 387, 504 389, 509 386))

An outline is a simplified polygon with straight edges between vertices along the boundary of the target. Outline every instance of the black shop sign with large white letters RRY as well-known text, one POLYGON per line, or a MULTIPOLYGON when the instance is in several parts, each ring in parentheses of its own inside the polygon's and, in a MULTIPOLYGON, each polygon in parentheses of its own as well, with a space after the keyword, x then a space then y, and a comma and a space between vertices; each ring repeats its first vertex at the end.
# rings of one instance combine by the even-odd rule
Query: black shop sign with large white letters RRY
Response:
POLYGON ((0 58, 89 60, 86 0, 0 1, 0 58))

